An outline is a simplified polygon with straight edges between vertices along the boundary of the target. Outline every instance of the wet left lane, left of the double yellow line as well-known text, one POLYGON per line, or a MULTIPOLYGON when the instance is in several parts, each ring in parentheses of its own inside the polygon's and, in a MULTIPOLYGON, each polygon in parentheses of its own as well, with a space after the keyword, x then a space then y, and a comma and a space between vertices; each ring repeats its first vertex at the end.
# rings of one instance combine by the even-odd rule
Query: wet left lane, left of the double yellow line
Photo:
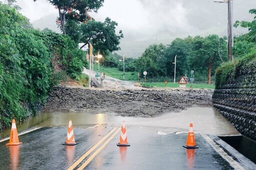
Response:
POLYGON ((67 169, 74 160, 92 147, 109 128, 74 128, 77 145, 62 145, 66 127, 42 127, 19 136, 17 146, 0 143, 0 169, 67 169))

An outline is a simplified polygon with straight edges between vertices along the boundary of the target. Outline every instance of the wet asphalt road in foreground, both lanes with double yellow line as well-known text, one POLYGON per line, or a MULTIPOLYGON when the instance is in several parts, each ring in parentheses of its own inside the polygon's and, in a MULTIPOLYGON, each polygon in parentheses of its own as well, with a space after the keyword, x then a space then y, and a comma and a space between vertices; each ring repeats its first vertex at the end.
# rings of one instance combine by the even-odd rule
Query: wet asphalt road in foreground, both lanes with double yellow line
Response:
POLYGON ((164 134, 156 127, 131 125, 126 127, 130 146, 118 147, 119 129, 74 127, 79 143, 66 146, 62 145, 66 127, 42 127, 20 135, 21 145, 0 142, 0 169, 253 169, 255 165, 246 158, 237 159, 239 153, 223 154, 214 146, 216 136, 195 133, 199 148, 185 149, 187 133, 164 134))

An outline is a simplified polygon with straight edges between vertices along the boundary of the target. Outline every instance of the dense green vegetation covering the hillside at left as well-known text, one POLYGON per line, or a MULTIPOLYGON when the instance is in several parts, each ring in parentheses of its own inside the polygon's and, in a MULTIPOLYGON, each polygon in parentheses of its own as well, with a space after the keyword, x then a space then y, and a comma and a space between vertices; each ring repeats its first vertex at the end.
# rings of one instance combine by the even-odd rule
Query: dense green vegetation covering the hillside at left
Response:
POLYGON ((69 36, 35 30, 0 3, 0 129, 35 114, 64 75, 79 78, 84 57, 69 36))

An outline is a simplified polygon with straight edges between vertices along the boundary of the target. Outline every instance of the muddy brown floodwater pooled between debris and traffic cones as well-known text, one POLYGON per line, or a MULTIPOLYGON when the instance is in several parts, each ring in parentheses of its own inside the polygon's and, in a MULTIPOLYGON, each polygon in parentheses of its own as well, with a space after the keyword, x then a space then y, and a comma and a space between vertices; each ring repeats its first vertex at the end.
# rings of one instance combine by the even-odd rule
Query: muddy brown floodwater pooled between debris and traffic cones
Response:
MULTIPOLYGON (((38 126, 66 126, 71 119, 76 127, 87 128, 97 125, 119 126, 125 120, 127 126, 144 126, 161 129, 164 132, 187 131, 189 123, 193 123, 194 131, 206 134, 231 135, 239 134, 231 124, 222 117, 214 107, 190 107, 181 112, 169 112, 158 117, 121 117, 114 113, 90 112, 41 112, 17 124, 18 131, 38 126)), ((9 134, 9 129, 1 131, 0 137, 9 134)))

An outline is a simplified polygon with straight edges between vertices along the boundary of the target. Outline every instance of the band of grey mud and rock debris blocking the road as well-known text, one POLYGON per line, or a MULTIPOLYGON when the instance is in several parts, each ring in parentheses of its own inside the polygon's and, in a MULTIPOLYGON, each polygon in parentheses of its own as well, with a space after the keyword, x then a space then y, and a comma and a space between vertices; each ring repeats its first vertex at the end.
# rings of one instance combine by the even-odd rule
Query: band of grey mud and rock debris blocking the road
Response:
POLYGON ((115 112, 122 116, 157 116, 187 107, 212 105, 211 89, 88 89, 56 86, 44 110, 115 112))

